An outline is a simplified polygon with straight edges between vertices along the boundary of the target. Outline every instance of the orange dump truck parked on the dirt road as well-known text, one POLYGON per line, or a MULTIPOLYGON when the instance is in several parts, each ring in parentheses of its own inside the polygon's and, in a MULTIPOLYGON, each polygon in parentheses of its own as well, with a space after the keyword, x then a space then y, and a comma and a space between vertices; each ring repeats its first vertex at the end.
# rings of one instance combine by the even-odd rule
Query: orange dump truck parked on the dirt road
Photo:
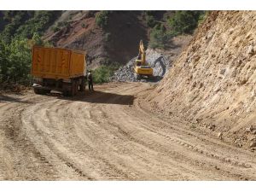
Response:
POLYGON ((33 46, 33 89, 44 95, 51 90, 61 91, 64 96, 75 96, 85 90, 85 51, 33 46))

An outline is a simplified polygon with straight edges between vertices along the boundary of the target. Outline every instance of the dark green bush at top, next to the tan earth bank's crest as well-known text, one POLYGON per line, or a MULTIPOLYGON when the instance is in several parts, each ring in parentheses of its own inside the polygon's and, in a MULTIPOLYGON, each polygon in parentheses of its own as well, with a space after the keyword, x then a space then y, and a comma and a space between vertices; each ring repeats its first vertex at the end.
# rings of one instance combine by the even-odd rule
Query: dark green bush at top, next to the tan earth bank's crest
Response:
POLYGON ((204 11, 176 11, 169 20, 169 25, 177 34, 192 33, 204 13, 204 11))

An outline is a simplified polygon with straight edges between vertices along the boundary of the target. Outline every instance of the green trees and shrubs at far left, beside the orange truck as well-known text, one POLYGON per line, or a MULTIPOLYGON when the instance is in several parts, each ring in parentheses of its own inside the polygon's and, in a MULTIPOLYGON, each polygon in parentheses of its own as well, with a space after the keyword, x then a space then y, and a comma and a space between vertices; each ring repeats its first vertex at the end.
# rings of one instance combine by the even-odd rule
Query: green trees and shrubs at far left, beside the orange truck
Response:
POLYGON ((60 11, 2 11, 0 29, 0 83, 29 84, 32 46, 41 39, 60 11))

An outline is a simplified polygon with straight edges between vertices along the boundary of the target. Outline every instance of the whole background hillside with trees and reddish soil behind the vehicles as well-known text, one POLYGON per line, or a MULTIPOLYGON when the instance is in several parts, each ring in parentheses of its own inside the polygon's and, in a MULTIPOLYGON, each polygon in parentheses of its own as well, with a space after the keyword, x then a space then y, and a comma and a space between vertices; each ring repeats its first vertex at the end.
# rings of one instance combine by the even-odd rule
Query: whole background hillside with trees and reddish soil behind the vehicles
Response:
POLYGON ((108 82, 115 70, 137 56, 141 39, 146 49, 165 55, 170 67, 206 12, 6 10, 0 16, 0 83, 9 87, 32 84, 35 44, 85 50, 88 68, 99 67, 96 83, 108 82))

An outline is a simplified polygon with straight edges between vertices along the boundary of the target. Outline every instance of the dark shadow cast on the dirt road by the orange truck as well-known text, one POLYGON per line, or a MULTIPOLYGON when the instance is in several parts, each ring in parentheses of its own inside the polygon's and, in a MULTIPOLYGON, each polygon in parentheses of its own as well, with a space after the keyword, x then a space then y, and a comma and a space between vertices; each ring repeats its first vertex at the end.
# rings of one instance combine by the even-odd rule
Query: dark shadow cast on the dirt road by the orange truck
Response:
MULTIPOLYGON (((50 94, 53 96, 53 94, 50 94)), ((116 93, 108 93, 100 90, 95 90, 89 92, 86 90, 80 93, 78 96, 67 97, 60 94, 55 94, 61 100, 68 101, 79 101, 79 102, 91 102, 91 103, 103 103, 103 104, 119 104, 119 105, 132 105, 134 101, 134 96, 130 95, 119 95, 116 93)))

